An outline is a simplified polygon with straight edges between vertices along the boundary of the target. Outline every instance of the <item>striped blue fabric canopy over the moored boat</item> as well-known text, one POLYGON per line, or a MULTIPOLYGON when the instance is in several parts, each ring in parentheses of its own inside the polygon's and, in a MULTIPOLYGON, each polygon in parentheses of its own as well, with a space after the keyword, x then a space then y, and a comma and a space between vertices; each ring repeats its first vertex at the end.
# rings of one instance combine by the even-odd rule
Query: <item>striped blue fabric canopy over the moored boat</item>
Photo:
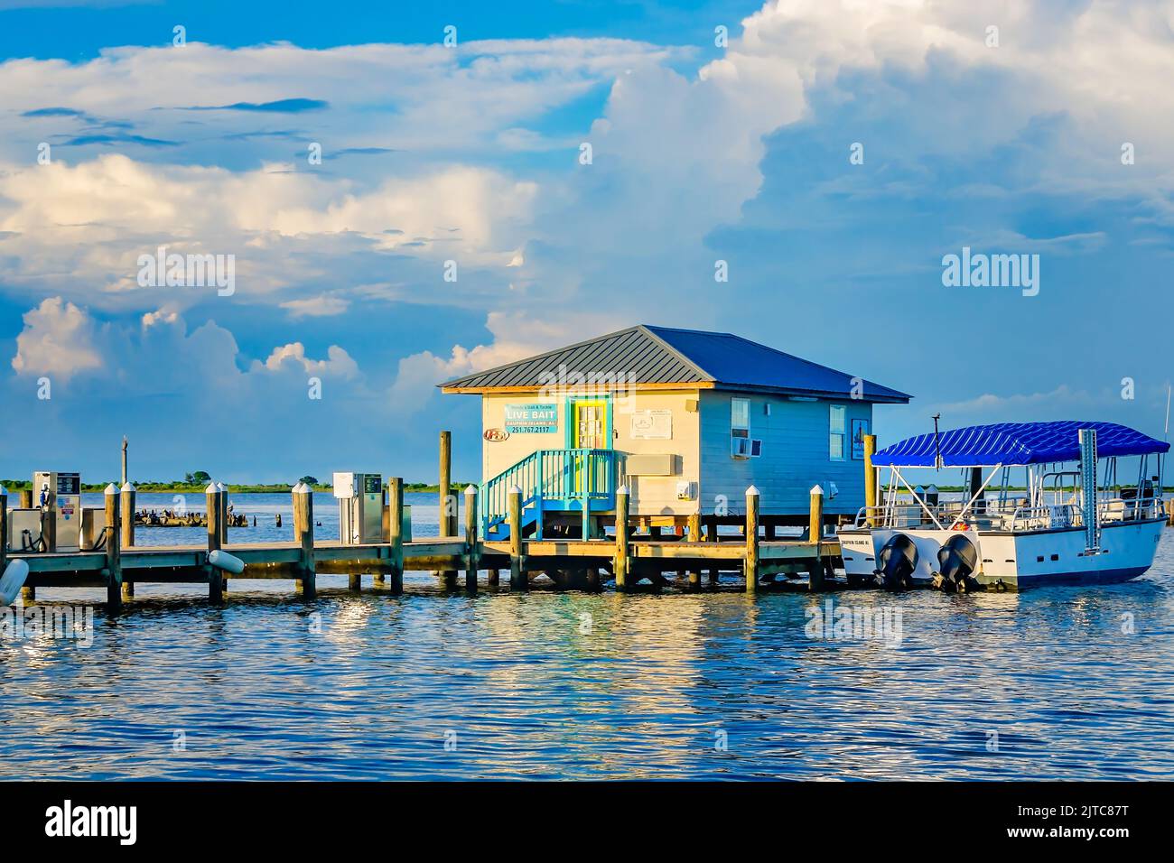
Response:
POLYGON ((1080 429, 1097 430, 1097 454, 1146 456, 1168 452, 1170 445, 1115 423, 1081 423, 1074 419, 1053 423, 996 423, 952 429, 937 436, 918 434, 877 451, 877 467, 933 467, 940 453, 947 467, 989 467, 994 465, 1038 465, 1048 461, 1079 461, 1080 429))

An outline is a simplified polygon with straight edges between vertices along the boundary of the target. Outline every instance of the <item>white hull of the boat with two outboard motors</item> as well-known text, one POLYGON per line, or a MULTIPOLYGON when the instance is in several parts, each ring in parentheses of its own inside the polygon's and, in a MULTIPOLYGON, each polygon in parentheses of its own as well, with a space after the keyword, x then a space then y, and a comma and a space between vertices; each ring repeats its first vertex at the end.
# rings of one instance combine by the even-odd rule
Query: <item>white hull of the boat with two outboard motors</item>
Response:
POLYGON ((1112 584, 1145 573, 1154 562, 1165 519, 1107 522, 1101 526, 1101 548, 1085 553, 1081 527, 1018 533, 1001 531, 939 531, 924 527, 844 527, 838 531, 844 571, 871 578, 877 558, 893 534, 904 533, 917 546, 915 584, 933 580, 938 550, 962 534, 974 542, 981 585, 1024 589, 1041 585, 1112 584))

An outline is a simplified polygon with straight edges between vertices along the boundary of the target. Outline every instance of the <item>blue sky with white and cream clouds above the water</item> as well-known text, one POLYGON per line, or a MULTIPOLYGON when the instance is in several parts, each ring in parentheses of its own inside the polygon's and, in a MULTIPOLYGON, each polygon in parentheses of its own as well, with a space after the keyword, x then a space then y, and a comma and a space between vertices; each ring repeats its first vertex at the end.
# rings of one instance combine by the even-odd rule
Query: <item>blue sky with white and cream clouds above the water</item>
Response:
POLYGON ((912 393, 882 446, 1163 433, 1174 1, 0 0, 0 477, 478 479, 437 383, 637 323, 912 393))

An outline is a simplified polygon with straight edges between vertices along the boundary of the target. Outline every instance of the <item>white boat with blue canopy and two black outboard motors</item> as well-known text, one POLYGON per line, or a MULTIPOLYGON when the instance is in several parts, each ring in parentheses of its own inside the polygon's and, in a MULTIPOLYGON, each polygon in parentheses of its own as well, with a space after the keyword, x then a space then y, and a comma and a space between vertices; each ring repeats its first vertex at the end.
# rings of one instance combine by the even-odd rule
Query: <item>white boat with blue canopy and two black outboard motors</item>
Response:
POLYGON ((871 458, 883 499, 837 531, 849 584, 1021 591, 1135 579, 1153 565, 1166 525, 1159 478, 1168 451, 1124 425, 1078 420, 902 440, 871 458), (1118 460, 1134 457, 1136 481, 1129 470, 1132 484, 1122 485, 1118 460), (959 500, 944 501, 936 486, 913 487, 903 474, 947 467, 963 471, 959 500))

